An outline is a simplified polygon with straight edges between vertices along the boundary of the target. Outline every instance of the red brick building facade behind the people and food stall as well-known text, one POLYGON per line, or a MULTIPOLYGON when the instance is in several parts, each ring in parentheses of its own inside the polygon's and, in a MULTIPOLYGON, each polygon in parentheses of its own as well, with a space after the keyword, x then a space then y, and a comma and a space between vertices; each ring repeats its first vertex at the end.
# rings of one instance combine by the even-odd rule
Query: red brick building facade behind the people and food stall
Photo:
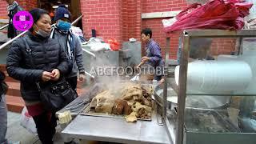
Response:
MULTIPOLYGON (((40 6, 44 8, 42 3, 46 0, 17 0, 17 2, 25 10, 31 10, 40 6)), ((180 33, 165 34, 162 19, 172 18, 180 10, 185 10, 189 6, 186 0, 72 0, 65 2, 71 5, 72 14, 84 15, 82 30, 86 38, 90 38, 91 30, 94 29, 97 36, 104 39, 116 38, 119 43, 126 42, 129 38, 137 38, 140 41, 141 30, 150 27, 153 30, 153 38, 160 44, 162 51, 166 48, 166 36, 170 37, 170 58, 176 58, 180 33), (74 6, 74 2, 78 3, 78 6, 74 6)), ((4 0, 0 1, 0 19, 8 18, 6 6, 4 0)), ((233 40, 222 41, 214 41, 213 54, 218 52, 229 54, 230 45, 235 45, 233 40)))

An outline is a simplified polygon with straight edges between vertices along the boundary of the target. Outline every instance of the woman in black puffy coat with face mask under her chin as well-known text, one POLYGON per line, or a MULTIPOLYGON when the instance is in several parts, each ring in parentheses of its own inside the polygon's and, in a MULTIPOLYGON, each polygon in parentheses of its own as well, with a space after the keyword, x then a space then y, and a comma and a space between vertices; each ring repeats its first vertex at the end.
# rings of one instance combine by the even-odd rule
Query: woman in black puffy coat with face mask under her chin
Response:
POLYGON ((23 38, 12 43, 7 54, 6 70, 21 82, 21 94, 29 114, 34 118, 42 144, 53 143, 56 118, 44 109, 36 82, 54 82, 70 72, 66 54, 58 42, 49 38, 50 15, 46 10, 30 11, 34 25, 23 38), (30 47, 26 47, 26 43, 30 47))

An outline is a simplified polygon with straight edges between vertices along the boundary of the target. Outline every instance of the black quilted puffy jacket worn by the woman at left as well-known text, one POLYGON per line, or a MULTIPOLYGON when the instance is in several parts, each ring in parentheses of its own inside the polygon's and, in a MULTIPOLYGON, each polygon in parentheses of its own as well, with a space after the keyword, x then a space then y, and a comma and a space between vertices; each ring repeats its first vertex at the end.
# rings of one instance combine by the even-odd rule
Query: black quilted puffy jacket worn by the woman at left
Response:
POLYGON ((61 75, 70 72, 70 64, 58 42, 51 38, 38 38, 30 32, 12 43, 7 53, 6 70, 10 77, 21 81, 22 98, 27 102, 39 101, 36 82, 42 81, 42 72, 58 69, 61 75), (26 50, 28 42, 31 52, 26 50), (29 55, 30 54, 30 55, 29 55), (31 57, 30 57, 31 56, 31 57), (30 58, 33 59, 34 66, 30 58))

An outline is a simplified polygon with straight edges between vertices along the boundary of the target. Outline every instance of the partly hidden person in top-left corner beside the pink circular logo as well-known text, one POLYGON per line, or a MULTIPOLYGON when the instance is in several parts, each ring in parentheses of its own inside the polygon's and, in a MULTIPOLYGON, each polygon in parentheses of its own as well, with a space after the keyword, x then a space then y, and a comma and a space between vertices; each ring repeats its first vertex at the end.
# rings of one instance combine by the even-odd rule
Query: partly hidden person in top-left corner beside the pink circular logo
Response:
POLYGON ((6 0, 6 2, 8 3, 8 16, 9 16, 9 26, 8 26, 8 38, 15 38, 18 33, 17 30, 14 28, 14 24, 13 24, 13 18, 14 18, 14 14, 18 13, 18 11, 22 10, 22 7, 18 5, 18 2, 14 1, 14 0, 6 0))

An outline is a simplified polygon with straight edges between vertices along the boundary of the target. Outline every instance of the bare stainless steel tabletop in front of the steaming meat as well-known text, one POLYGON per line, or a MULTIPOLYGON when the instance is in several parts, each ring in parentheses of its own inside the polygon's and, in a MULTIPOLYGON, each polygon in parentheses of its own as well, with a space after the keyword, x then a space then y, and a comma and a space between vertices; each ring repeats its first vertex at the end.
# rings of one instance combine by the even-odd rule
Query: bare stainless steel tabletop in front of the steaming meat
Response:
POLYGON ((172 144, 165 126, 158 125, 155 112, 150 122, 78 115, 62 130, 62 136, 103 142, 172 144))

